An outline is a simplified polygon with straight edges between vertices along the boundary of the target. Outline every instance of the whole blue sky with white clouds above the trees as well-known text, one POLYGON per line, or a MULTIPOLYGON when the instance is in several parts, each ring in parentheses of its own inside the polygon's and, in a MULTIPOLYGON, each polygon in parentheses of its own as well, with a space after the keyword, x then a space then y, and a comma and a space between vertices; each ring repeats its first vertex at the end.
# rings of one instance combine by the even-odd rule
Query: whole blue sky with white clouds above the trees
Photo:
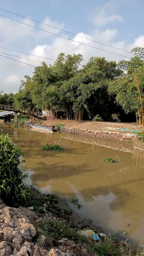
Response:
POLYGON ((54 63, 60 52, 65 54, 80 53, 83 55, 83 61, 81 62, 81 65, 83 65, 92 56, 105 57, 108 61, 114 60, 116 62, 122 59, 130 60, 129 58, 133 56, 129 53, 132 48, 136 46, 144 47, 143 0, 0 0, 0 8, 75 34, 71 35, 0 9, 0 92, 16 93, 21 85, 21 80, 24 80, 24 76, 32 76, 35 70, 35 67, 3 56, 33 66, 39 66, 41 65, 40 62, 45 61, 49 66, 49 64, 54 63), (18 53, 2 47, 54 60, 18 53), (99 48, 99 50, 94 47, 99 48), (6 53, 20 58, 6 55, 6 53))

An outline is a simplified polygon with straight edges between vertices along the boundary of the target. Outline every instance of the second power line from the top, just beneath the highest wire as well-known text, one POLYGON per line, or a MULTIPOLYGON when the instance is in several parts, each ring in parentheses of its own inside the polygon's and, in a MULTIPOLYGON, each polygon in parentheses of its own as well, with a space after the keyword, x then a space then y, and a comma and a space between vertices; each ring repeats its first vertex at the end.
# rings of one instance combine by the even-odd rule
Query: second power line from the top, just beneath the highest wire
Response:
POLYGON ((60 35, 56 35, 56 34, 54 34, 54 33, 52 33, 52 32, 46 31, 46 30, 44 30, 44 29, 37 28, 37 27, 35 27, 35 26, 29 25, 29 24, 24 23, 24 22, 17 21, 17 20, 15 20, 15 19, 12 19, 12 18, 6 17, 6 16, 4 16, 4 15, 0 15, 0 16, 2 16, 2 17, 4 17, 4 18, 7 18, 7 19, 9 19, 9 20, 16 21, 16 22, 19 22, 19 23, 21 23, 21 24, 27 25, 27 26, 29 26, 29 27, 32 27, 32 28, 35 28, 35 29, 38 29, 38 30, 41 30, 41 31, 47 32, 47 33, 52 34, 52 35, 55 35, 55 36, 57 36, 57 37, 61 37, 61 38, 67 39, 67 40, 69 40, 69 41, 73 41, 73 42, 75 42, 75 43, 79 43, 79 44, 82 44, 82 45, 85 45, 85 46, 88 46, 88 47, 91 47, 91 48, 94 48, 94 49, 97 49, 97 50, 100 50, 100 51, 104 51, 104 52, 112 53, 112 54, 115 54, 115 55, 118 55, 118 56, 121 56, 121 57, 124 57, 124 58, 131 59, 130 57, 123 56, 123 55, 118 54, 118 53, 109 52, 109 51, 106 51, 106 50, 103 50, 103 49, 100 49, 100 48, 97 48, 97 47, 94 47, 94 46, 91 46, 91 45, 87 45, 87 44, 84 44, 84 43, 81 43, 81 42, 75 41, 75 40, 73 40, 73 39, 69 39, 69 38, 66 38, 66 37, 63 37, 63 36, 60 36, 60 35))

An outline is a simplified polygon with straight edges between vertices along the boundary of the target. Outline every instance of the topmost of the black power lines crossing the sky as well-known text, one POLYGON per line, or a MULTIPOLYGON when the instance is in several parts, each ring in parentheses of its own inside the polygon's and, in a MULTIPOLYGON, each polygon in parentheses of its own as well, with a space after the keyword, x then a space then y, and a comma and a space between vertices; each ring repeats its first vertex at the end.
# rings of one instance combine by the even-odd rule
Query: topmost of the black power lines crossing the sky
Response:
MULTIPOLYGON (((71 34, 71 35, 73 35, 73 36, 77 36, 77 37, 80 37, 80 38, 83 38, 83 39, 86 39, 86 40, 89 40, 89 41, 95 42, 95 43, 97 43, 97 44, 105 45, 105 46, 108 46, 108 47, 111 47, 111 48, 114 48, 114 49, 117 49, 117 50, 120 50, 120 51, 123 51, 123 52, 128 52, 128 51, 126 51, 126 50, 122 50, 122 49, 120 49, 120 48, 117 48, 117 47, 114 47, 114 46, 111 46, 111 45, 106 45, 106 44, 104 44, 104 43, 97 42, 97 41, 95 41, 95 40, 92 40, 92 39, 89 39, 89 38, 86 38, 86 37, 78 36, 78 35, 76 35, 76 34, 74 34, 74 33, 69 32, 69 31, 66 31, 66 30, 63 30, 63 29, 59 29, 59 28, 56 28, 56 27, 50 26, 50 25, 48 25, 48 24, 45 24, 45 23, 42 23, 42 22, 39 22, 39 21, 36 21, 36 20, 30 19, 30 18, 25 17, 25 16, 23 16, 23 15, 13 13, 13 12, 10 12, 10 11, 5 10, 5 9, 2 9, 2 8, 0 8, 0 10, 3 10, 3 11, 5 11, 5 12, 11 13, 11 14, 15 14, 15 15, 20 16, 20 17, 23 17, 23 18, 25 18, 25 19, 28 19, 28 20, 31 20, 31 21, 34 21, 34 22, 37 22, 37 23, 43 24, 43 25, 48 26, 48 27, 51 27, 51 28, 53 28, 53 29, 57 29, 57 30, 60 30, 60 31, 63 31, 63 32, 69 33, 69 34, 71 34)), ((132 52, 128 52, 128 53, 133 54, 132 52)), ((128 57, 127 57, 127 58, 128 58, 128 57)))

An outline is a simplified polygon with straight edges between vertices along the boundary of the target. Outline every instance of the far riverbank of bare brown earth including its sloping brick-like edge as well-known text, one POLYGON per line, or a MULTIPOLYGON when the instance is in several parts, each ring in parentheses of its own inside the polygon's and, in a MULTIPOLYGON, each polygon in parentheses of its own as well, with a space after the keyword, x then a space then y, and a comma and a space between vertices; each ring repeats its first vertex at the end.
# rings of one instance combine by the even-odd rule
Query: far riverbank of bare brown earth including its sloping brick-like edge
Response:
MULTIPOLYGON (((100 138, 133 140, 134 132, 137 131, 137 125, 134 123, 115 123, 115 122, 98 122, 98 121, 81 121, 73 120, 48 120, 43 121, 42 125, 58 125, 62 124, 61 132, 90 135, 100 138)), ((138 129, 139 131, 139 129, 138 129)))

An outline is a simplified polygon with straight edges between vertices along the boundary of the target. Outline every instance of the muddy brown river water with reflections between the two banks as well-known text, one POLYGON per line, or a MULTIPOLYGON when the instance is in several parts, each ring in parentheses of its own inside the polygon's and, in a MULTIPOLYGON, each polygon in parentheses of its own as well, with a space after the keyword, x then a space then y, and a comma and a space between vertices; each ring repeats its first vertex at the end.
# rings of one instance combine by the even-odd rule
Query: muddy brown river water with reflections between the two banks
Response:
POLYGON ((143 152, 133 151, 130 143, 43 134, 29 127, 16 130, 10 124, 1 124, 0 130, 22 147, 29 185, 66 198, 73 210, 91 218, 106 234, 144 244, 143 152), (59 144, 65 151, 41 151, 46 143, 59 144), (104 163, 105 157, 116 163, 104 163), (69 202, 71 197, 78 198, 80 210, 69 202))

